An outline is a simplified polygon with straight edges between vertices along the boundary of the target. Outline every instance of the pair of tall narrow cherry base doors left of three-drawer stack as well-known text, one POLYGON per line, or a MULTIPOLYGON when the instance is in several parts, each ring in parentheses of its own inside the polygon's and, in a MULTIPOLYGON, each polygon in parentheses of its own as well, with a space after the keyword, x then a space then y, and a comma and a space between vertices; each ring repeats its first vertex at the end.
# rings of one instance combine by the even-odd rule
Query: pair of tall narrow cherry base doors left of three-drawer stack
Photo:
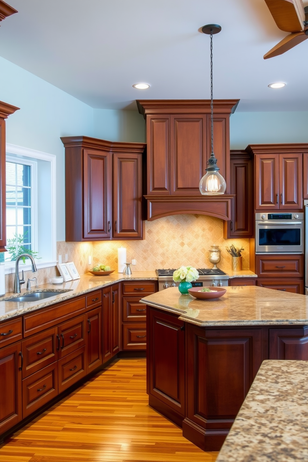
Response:
POLYGON ((103 364, 120 351, 119 284, 103 288, 103 364))

